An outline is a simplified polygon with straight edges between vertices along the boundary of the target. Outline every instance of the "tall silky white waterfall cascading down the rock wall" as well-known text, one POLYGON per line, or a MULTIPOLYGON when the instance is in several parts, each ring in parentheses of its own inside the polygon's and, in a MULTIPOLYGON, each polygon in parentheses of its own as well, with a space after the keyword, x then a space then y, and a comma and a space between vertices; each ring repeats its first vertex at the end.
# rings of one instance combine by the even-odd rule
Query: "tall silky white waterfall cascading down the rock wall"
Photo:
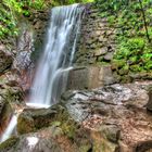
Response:
POLYGON ((47 43, 31 86, 28 105, 52 105, 65 91, 83 10, 79 4, 52 9, 47 43))

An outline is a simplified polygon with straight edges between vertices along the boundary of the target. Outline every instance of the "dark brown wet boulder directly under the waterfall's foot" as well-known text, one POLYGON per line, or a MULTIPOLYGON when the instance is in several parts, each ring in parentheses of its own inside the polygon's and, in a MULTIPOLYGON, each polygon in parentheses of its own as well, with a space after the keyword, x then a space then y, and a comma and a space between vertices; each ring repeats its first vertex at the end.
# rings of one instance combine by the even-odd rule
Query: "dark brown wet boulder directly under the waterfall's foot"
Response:
POLYGON ((27 134, 49 126, 56 111, 51 109, 25 109, 17 119, 17 132, 27 134))

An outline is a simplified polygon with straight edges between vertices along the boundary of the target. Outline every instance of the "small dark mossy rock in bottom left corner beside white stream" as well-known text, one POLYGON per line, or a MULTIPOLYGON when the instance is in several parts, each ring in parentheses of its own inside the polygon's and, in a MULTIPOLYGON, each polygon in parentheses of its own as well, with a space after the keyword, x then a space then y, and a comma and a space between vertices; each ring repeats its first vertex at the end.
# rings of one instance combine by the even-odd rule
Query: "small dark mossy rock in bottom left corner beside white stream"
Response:
POLYGON ((12 138, 8 139, 8 140, 5 140, 4 142, 2 142, 0 144, 0 151, 1 152, 9 151, 9 149, 11 149, 12 147, 15 147, 17 141, 18 141, 18 138, 16 138, 16 137, 12 137, 12 138))

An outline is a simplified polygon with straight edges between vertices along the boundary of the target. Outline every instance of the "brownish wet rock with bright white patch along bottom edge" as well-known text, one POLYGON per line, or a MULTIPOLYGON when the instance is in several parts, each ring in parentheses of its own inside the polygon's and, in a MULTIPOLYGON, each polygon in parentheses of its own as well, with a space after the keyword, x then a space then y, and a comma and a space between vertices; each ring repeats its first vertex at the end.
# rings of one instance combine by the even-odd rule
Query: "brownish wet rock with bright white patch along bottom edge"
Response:
MULTIPOLYGON (((8 144, 9 140, 0 145, 1 152, 87 152, 91 149, 91 141, 87 136, 77 132, 80 141, 73 141, 66 137, 60 127, 49 127, 39 132, 24 135, 15 141, 13 147, 8 144)), ((84 132, 86 135, 86 132, 84 132)))

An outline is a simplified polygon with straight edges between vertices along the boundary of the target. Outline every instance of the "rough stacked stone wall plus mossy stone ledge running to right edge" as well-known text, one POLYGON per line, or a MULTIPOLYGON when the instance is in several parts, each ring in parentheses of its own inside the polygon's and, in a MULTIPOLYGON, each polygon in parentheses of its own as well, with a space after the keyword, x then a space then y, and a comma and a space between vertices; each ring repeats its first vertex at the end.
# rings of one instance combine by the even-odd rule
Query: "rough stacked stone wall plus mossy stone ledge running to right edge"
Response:
MULTIPOLYGON (((111 66, 113 77, 117 83, 152 79, 151 72, 132 72, 128 68, 128 61, 116 61, 117 35, 119 28, 111 24, 105 12, 99 10, 93 3, 87 4, 81 21, 79 40, 75 53, 77 66, 111 66)), ((134 65, 132 65, 134 66, 134 65)))

